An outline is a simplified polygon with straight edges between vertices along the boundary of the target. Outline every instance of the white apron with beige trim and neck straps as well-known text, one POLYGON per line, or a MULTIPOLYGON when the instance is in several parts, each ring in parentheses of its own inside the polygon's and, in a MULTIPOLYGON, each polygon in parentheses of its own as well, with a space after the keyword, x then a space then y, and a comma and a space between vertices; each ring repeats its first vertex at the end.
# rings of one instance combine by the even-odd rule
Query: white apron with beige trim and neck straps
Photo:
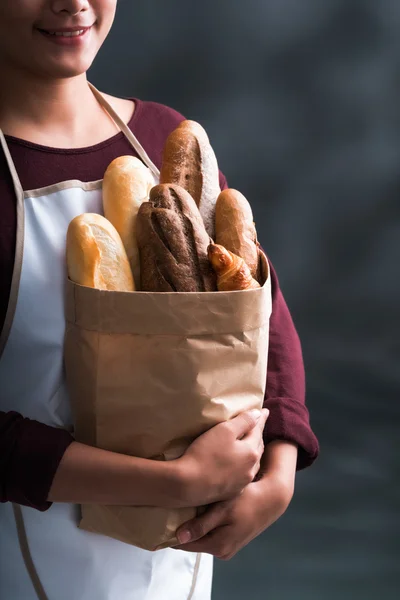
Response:
MULTIPOLYGON (((150 168, 129 128, 99 103, 150 168)), ((65 244, 70 221, 102 213, 102 182, 65 181, 23 191, 0 130, 17 196, 17 247, 0 338, 0 410, 72 430, 63 372, 65 244)), ((0 505, 0 600, 209 600, 212 557, 152 553, 78 528, 79 507, 37 510, 0 505)))

